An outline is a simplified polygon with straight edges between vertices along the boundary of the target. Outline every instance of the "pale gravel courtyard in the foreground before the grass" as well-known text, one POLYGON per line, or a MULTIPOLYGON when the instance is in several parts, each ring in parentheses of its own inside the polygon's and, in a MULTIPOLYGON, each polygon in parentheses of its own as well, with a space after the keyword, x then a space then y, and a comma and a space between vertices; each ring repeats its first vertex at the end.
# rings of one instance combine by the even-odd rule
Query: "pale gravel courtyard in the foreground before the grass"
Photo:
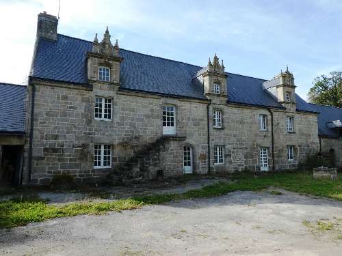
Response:
POLYGON ((342 202, 281 190, 0 230, 1 255, 342 255, 342 202), (335 223, 317 230, 306 221, 335 223))

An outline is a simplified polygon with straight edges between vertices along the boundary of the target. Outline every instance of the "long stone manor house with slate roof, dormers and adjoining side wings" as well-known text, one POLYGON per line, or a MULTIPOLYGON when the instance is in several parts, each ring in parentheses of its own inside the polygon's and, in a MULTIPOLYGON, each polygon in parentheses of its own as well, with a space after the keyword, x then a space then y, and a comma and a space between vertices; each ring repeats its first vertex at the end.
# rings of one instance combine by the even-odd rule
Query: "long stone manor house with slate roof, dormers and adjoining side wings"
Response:
POLYGON ((57 24, 38 15, 27 87, 0 85, 3 179, 277 171, 319 152, 342 167, 342 109, 302 100, 288 69, 266 81, 227 72, 216 55, 199 67, 119 48, 108 28, 89 42, 57 24))

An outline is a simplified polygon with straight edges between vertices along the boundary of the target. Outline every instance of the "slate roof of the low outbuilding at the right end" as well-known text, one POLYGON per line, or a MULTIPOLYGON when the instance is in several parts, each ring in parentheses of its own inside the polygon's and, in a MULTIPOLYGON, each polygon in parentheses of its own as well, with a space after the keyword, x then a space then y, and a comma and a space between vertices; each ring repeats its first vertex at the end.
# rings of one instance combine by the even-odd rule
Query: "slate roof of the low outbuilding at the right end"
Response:
POLYGON ((326 123, 335 120, 342 120, 342 109, 334 106, 324 106, 308 103, 312 111, 319 112, 318 115, 318 134, 328 137, 339 137, 339 130, 328 128, 326 123))

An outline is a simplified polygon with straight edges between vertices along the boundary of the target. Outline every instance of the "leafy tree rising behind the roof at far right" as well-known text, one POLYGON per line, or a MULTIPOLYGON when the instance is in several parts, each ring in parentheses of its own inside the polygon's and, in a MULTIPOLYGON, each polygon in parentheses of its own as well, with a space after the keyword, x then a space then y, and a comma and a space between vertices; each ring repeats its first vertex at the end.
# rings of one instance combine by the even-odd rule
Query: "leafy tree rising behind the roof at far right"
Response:
POLYGON ((342 72, 317 76, 313 87, 308 91, 308 101, 342 108, 342 72))

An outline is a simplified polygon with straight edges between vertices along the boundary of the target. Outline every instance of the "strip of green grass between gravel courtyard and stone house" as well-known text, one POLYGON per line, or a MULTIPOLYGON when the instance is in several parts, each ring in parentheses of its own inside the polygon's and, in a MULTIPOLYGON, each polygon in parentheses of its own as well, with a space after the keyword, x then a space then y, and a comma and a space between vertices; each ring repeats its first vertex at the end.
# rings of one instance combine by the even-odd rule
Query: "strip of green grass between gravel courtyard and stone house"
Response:
POLYGON ((0 202, 0 228, 26 225, 49 218, 76 216, 80 214, 104 214, 109 211, 122 211, 140 208, 143 205, 166 203, 172 200, 215 197, 236 190, 257 191, 269 186, 286 190, 329 197, 342 201, 342 175, 339 180, 313 180, 312 175, 304 173, 239 173, 231 175, 233 183, 218 183, 183 194, 133 197, 109 202, 69 203, 49 205, 40 199, 14 198, 0 202))

